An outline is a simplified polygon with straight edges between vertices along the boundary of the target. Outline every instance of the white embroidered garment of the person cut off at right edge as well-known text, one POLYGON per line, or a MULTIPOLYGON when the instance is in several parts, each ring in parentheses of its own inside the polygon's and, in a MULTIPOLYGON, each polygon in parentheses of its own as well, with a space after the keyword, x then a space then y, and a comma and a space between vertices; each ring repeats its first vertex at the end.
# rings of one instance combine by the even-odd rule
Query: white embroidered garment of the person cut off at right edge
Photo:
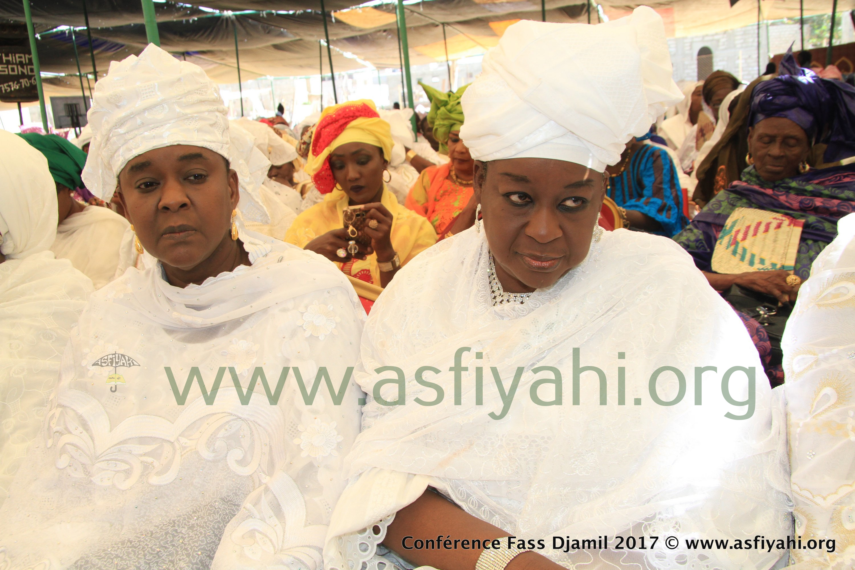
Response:
POLYGON ((855 566, 855 214, 837 229, 781 339, 796 534, 836 541, 834 553, 793 550, 806 569, 855 566))

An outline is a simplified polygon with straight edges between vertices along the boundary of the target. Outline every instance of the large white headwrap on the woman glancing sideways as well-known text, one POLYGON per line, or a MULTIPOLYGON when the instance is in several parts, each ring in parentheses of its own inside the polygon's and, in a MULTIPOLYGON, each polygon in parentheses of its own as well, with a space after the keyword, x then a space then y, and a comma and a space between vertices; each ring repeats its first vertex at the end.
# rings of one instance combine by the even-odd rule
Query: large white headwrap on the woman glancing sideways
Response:
POLYGON ((551 158, 603 172, 683 98, 662 18, 646 6, 597 26, 519 21, 463 94, 475 160, 551 158))

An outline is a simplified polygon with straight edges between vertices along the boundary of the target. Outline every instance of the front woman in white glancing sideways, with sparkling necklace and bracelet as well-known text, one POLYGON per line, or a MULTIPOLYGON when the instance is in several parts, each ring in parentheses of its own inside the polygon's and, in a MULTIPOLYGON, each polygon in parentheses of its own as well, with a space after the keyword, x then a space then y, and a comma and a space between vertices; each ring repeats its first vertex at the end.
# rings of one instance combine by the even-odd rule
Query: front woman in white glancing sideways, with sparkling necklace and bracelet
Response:
POLYGON ((680 97, 661 19, 517 22, 482 65, 461 137, 483 219, 371 311, 327 568, 380 543, 441 570, 770 567, 686 543, 791 525, 745 327, 670 240, 596 229, 605 167, 680 97))

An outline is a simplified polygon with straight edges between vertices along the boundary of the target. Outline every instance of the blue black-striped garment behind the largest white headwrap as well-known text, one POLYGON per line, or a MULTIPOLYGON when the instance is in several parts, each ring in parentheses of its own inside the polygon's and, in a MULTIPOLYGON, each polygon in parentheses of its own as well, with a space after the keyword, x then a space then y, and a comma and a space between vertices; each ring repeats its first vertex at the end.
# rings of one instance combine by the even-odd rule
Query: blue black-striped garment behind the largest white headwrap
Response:
POLYGON ((634 209, 657 220, 659 235, 672 238, 689 220, 683 213, 683 194, 677 168, 667 150, 642 144, 626 169, 610 179, 609 197, 618 206, 634 209))

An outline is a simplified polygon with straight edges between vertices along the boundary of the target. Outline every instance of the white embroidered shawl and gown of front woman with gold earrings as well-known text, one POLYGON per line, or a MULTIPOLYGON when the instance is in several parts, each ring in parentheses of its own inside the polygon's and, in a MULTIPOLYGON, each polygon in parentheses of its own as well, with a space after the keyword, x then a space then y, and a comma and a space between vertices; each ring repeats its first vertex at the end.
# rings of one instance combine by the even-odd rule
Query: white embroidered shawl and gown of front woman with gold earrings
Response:
POLYGON ((260 382, 244 405, 226 370, 210 404, 194 383, 178 405, 165 372, 180 392, 198 370, 211 391, 231 367, 246 391, 263 367, 274 391, 282 367, 298 367, 310 390, 327 367, 338 390, 357 360, 364 312, 333 264, 241 239, 251 267, 179 289, 158 263, 93 295, 0 510, 0 567, 321 567, 359 430, 355 383, 334 405, 321 381, 307 405, 291 372, 278 405, 260 382), (97 366, 114 353, 139 366, 97 366))

